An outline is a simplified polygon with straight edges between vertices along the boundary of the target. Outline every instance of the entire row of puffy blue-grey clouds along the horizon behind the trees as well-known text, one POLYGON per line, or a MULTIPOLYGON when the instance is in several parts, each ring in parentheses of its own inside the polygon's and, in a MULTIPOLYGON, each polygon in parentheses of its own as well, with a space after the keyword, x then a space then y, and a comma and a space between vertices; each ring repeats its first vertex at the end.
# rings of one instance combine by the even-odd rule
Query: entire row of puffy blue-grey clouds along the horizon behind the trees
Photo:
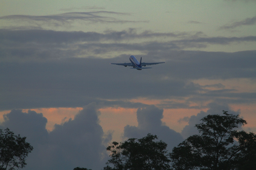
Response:
MULTIPOLYGON (((229 113, 239 114, 239 111, 232 111, 228 106, 210 104, 210 109, 201 111, 197 115, 184 117, 181 121, 188 121, 182 133, 177 133, 162 122, 163 109, 154 105, 138 108, 138 126, 126 125, 124 127, 124 140, 128 138, 142 138, 148 133, 158 136, 168 144, 168 151, 171 152, 186 137, 197 134, 194 127, 200 123, 200 119, 208 114, 220 114, 220 109, 226 109, 229 113), (184 138, 183 138, 183 137, 184 138)), ((46 130, 47 119, 43 113, 35 111, 22 112, 16 109, 4 115, 4 121, 0 128, 9 128, 15 134, 25 136, 34 150, 28 155, 25 169, 72 169, 77 166, 100 169, 105 166, 109 159, 106 147, 112 141, 112 132, 104 133, 99 124, 100 111, 96 103, 88 104, 79 111, 74 119, 69 119, 62 124, 56 124, 50 132, 46 130)), ((121 141, 118 141, 121 142, 121 141)))

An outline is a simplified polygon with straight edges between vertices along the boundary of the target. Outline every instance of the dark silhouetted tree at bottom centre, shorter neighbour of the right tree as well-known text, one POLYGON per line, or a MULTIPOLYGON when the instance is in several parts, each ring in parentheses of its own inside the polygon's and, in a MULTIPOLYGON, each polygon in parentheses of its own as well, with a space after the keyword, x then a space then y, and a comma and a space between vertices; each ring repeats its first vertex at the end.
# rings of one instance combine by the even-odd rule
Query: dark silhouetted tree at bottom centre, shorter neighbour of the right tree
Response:
POLYGON ((107 166, 104 170, 169 170, 167 144, 156 139, 156 135, 149 133, 142 139, 112 142, 107 147, 111 159, 106 164, 112 164, 114 168, 107 166))

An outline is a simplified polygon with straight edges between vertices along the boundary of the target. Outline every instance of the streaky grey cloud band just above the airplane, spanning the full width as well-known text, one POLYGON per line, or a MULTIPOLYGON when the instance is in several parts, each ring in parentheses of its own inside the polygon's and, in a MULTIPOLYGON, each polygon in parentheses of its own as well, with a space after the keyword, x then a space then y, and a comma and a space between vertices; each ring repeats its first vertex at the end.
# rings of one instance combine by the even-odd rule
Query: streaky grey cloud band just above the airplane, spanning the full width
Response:
MULTIPOLYGON (((190 47, 205 48, 212 44, 228 45, 230 43, 254 42, 256 37, 205 37, 203 33, 154 33, 136 29, 124 31, 106 31, 105 33, 82 31, 52 30, 7 30, 0 29, 0 61, 42 61, 72 57, 114 57, 113 51, 127 56, 127 53, 140 51, 166 59, 182 60, 191 55, 201 54, 198 51, 182 50, 190 47), (150 41, 151 38, 168 37, 179 40, 150 41), (141 43, 134 43, 135 39, 141 43), (177 51, 178 50, 178 51, 177 51), (194 54, 193 54, 194 53, 194 54), (191 54, 191 55, 190 55, 191 54), (176 56, 179 55, 179 58, 176 56), (184 56, 186 55, 186 56, 184 56)), ((218 54, 218 53, 209 53, 218 54)), ((221 55, 225 55, 222 53, 221 55)), ((230 54, 227 53, 227 56, 230 54)), ((197 59, 198 57, 195 56, 197 59)), ((241 57, 240 57, 241 58, 241 57)), ((207 60, 208 58, 206 58, 207 60)), ((230 64, 230 63, 227 63, 230 64)))

